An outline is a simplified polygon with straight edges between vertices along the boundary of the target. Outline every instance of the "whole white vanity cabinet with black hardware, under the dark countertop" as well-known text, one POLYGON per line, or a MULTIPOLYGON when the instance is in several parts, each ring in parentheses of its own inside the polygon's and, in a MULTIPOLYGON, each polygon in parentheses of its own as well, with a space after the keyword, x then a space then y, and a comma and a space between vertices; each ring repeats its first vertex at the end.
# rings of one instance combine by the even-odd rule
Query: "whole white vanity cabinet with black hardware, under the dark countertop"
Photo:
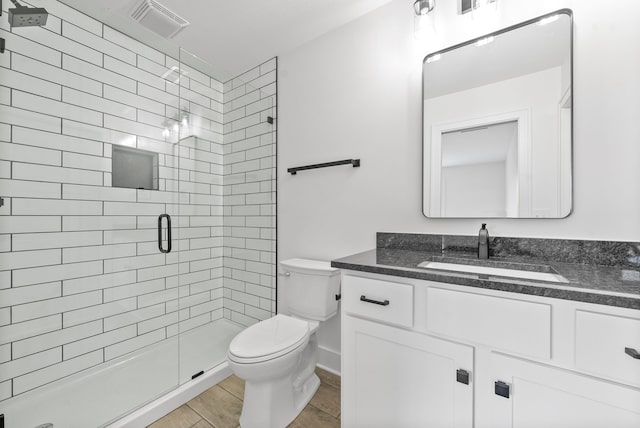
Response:
POLYGON ((638 310, 345 271, 342 427, 638 428, 634 350, 638 310))

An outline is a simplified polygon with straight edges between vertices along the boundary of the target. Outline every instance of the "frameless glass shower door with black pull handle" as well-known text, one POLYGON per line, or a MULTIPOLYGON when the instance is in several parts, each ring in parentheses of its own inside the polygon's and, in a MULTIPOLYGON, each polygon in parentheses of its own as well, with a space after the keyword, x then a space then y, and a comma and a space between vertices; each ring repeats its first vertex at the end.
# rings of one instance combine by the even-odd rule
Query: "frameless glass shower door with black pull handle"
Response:
POLYGON ((179 54, 47 9, 0 18, 0 414, 86 428, 180 383, 179 54))

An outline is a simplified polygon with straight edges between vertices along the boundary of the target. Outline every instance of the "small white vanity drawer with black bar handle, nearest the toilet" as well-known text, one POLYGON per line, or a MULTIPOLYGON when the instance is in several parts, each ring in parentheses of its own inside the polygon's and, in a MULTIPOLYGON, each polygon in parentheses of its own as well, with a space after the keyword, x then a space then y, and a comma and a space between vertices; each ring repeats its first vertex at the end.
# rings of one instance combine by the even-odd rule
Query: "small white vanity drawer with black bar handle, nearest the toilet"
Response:
POLYGON ((413 286, 345 275, 342 310, 376 321, 413 326, 413 286))

